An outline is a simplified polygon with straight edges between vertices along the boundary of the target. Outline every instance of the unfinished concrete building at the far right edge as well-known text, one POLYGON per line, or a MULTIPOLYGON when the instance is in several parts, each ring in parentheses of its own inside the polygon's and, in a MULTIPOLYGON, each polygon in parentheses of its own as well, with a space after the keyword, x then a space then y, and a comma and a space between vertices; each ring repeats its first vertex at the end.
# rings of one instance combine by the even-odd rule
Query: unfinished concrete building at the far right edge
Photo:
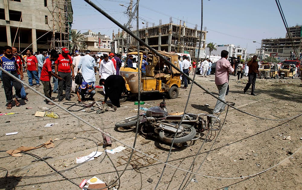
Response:
MULTIPOLYGON (((289 27, 288 30, 291 33, 296 51, 300 54, 302 51, 302 27, 289 27)), ((269 54, 279 58, 289 58, 290 52, 294 52, 294 46, 288 33, 286 33, 285 38, 262 40, 263 54, 269 54)))

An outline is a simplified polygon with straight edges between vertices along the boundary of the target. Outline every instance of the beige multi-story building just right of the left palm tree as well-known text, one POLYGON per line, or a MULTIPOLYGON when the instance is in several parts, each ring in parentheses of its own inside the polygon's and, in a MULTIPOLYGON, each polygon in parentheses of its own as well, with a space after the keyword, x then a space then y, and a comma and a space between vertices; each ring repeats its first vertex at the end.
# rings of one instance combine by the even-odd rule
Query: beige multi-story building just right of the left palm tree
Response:
POLYGON ((88 30, 84 32, 84 41, 87 44, 87 49, 92 53, 102 52, 109 53, 111 52, 111 39, 107 35, 101 35, 99 33, 92 32, 88 30), (100 42, 99 39, 100 38, 100 42), (100 46, 99 46, 100 45, 100 46))

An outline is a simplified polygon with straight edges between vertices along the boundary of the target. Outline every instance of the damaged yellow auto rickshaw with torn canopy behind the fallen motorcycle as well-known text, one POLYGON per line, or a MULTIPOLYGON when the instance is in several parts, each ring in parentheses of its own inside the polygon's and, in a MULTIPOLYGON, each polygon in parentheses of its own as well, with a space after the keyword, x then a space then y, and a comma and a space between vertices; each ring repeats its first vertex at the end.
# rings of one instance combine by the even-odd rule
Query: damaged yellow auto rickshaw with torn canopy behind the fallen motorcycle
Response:
MULTIPOLYGON (((176 53, 157 52, 179 68, 178 55, 176 53)), ((130 52, 127 55, 137 55, 137 52, 130 52)), ((130 58, 127 56, 127 59, 130 58)), ((127 59, 125 63, 127 63, 127 59)), ((120 102, 126 101, 127 97, 137 96, 139 90, 140 93, 166 93, 171 99, 178 97, 178 88, 180 88, 181 84, 181 73, 179 71, 172 68, 171 65, 153 52, 140 52, 140 63, 137 65, 139 65, 138 68, 125 66, 120 68, 120 75, 124 77, 127 89, 126 95, 120 102), (148 65, 146 65, 146 74, 141 75, 141 89, 139 89, 138 69, 142 68, 143 55, 147 56, 148 65)))

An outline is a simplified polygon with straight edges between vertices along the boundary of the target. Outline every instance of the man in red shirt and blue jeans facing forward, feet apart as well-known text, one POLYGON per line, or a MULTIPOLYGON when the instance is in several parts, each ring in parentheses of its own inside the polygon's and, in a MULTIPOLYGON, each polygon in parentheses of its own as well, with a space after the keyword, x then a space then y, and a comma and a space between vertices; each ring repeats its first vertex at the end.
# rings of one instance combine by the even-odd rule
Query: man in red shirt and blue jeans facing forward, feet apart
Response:
POLYGON ((28 49, 26 54, 27 54, 26 70, 27 70, 29 86, 34 86, 33 85, 33 76, 34 76, 34 78, 36 79, 37 87, 39 87, 40 81, 39 81, 39 77, 38 77, 38 60, 37 60, 36 56, 33 55, 32 49, 28 49))

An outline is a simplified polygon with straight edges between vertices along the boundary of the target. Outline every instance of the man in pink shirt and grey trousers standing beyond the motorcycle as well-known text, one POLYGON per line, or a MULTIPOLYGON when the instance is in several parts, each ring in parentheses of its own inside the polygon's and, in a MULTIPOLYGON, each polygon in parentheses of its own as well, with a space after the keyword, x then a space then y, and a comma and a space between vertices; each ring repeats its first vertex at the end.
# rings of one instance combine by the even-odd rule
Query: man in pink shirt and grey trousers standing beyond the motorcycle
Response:
MULTIPOLYGON (((227 60, 229 52, 226 50, 221 51, 221 59, 219 59, 216 63, 216 71, 215 71, 215 84, 219 91, 219 98, 225 101, 226 96, 226 89, 228 86, 228 77, 229 73, 234 72, 230 62, 227 60)), ((216 106, 213 110, 213 114, 219 114, 221 111, 224 110, 226 106, 225 103, 217 100, 216 106)))

